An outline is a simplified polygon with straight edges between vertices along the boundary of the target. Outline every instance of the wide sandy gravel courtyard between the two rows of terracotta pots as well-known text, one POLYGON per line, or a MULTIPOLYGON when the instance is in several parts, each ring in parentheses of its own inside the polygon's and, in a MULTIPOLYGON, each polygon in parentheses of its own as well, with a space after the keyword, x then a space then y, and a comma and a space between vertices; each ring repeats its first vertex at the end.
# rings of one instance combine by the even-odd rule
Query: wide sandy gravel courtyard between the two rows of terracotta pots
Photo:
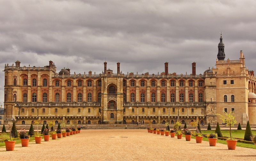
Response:
POLYGON ((41 144, 31 142, 29 147, 15 144, 14 151, 0 147, 1 160, 256 160, 256 150, 208 142, 196 144, 177 136, 150 134, 141 129, 81 130, 80 134, 67 136, 41 144))

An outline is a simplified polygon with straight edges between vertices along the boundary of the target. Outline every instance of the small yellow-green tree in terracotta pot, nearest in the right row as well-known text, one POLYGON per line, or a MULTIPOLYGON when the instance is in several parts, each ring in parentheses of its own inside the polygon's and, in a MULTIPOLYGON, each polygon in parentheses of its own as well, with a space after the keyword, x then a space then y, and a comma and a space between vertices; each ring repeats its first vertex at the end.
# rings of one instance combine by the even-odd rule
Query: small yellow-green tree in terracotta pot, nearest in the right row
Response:
POLYGON ((234 112, 230 111, 229 113, 225 113, 225 116, 220 115, 220 119, 226 124, 226 126, 229 127, 229 138, 226 140, 228 144, 228 150, 236 150, 236 142, 234 138, 231 136, 231 127, 233 127, 236 124, 236 119, 234 116, 234 112))

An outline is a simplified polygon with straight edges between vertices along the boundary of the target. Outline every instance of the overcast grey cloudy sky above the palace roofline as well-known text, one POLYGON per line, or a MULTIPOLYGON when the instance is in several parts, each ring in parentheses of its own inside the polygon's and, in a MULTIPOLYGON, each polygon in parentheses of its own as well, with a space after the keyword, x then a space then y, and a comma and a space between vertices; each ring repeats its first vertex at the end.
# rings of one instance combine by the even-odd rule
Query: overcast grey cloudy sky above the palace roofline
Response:
MULTIPOLYGON (((169 73, 196 74, 215 65, 220 31, 226 59, 256 70, 256 1, 92 0, 0 1, 0 66, 44 67, 71 74, 107 68, 116 73, 157 74, 169 62, 169 73), (15 65, 15 64, 14 64, 15 65)), ((0 74, 4 101, 4 72, 0 74)))

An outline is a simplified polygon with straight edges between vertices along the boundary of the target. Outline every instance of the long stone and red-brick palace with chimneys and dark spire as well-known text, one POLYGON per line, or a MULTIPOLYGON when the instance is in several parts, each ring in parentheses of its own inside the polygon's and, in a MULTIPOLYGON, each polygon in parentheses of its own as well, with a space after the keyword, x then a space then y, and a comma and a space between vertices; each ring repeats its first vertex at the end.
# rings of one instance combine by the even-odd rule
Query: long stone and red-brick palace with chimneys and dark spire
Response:
MULTIPOLYGON (((238 55, 239 57, 239 55, 238 55)), ((216 66, 196 75, 168 72, 168 62, 160 75, 117 73, 70 74, 59 72, 52 61, 44 67, 4 67, 4 121, 44 124, 61 120, 77 124, 182 124, 221 123, 219 114, 233 111, 237 123, 256 124, 256 77, 245 67, 243 51, 238 60, 225 60, 220 36, 216 66)))

